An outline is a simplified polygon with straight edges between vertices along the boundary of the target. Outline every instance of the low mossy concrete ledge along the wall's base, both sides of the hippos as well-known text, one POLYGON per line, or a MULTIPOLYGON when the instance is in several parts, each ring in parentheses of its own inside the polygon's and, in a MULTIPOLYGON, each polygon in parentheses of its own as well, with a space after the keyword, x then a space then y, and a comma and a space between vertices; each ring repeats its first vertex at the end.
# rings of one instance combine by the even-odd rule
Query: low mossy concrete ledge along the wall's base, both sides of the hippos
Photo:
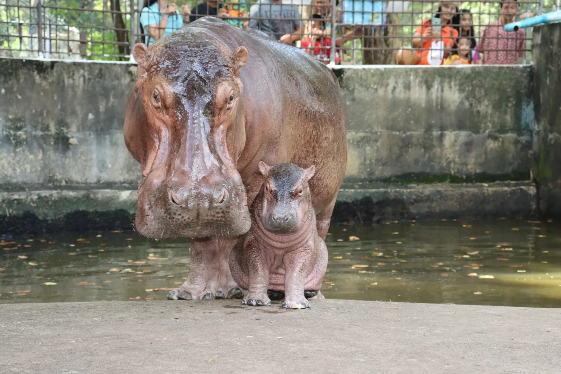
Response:
MULTIPOLYGON (((83 187, 82 187, 83 188, 83 187)), ((530 216, 530 183, 343 183, 332 220, 530 216)), ((131 229, 136 190, 99 188, 0 192, 0 233, 131 229)))

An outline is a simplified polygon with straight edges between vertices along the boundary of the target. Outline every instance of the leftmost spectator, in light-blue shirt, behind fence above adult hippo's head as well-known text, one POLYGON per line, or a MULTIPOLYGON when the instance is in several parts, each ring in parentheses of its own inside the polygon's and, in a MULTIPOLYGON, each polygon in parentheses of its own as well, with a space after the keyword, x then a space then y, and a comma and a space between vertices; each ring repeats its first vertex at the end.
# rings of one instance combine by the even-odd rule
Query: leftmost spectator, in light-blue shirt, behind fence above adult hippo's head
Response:
POLYGON ((176 3, 168 3, 168 0, 145 0, 144 8, 140 13, 140 32, 146 34, 144 43, 146 45, 162 38, 162 36, 173 33, 183 27, 183 20, 191 10, 187 5, 181 7, 181 15, 177 11, 176 3))

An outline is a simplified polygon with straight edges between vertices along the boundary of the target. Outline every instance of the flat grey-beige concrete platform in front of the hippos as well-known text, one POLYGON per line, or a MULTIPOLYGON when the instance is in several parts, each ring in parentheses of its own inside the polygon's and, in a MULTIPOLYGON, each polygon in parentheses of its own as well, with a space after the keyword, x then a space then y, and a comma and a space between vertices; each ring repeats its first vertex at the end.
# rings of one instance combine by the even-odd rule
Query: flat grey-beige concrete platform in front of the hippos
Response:
POLYGON ((0 305, 2 373, 559 373, 561 309, 327 300, 0 305))

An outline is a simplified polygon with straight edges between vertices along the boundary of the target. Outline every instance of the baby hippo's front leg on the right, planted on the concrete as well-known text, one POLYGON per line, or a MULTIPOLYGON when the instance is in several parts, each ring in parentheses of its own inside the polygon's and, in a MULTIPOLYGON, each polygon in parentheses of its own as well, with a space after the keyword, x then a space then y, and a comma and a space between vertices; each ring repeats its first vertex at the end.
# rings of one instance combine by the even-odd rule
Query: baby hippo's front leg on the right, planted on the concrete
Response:
POLYGON ((304 295, 307 269, 310 266, 311 250, 293 251, 284 255, 284 308, 303 309, 309 308, 310 302, 304 295))

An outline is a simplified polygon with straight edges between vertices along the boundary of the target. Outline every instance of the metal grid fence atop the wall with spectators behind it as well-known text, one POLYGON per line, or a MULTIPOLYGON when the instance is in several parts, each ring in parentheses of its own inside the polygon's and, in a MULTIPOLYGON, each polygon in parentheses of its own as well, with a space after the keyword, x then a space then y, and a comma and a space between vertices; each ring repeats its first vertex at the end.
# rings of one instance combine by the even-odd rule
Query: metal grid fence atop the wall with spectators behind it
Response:
MULTIPOLYGON (((511 16, 518 19, 524 13, 559 9, 559 0, 543 1, 519 0, 516 16, 511 16)), ((438 62, 439 56, 445 58, 457 49, 462 43, 457 36, 466 33, 470 56, 486 48, 481 57, 504 52, 527 61, 531 29, 508 34, 506 38, 514 40, 498 43, 504 35, 498 34, 502 27, 493 22, 503 16, 502 5, 499 1, 0 0, 0 56, 127 60, 135 43, 153 43, 198 17, 214 15, 241 29, 260 29, 324 63, 438 62)))

